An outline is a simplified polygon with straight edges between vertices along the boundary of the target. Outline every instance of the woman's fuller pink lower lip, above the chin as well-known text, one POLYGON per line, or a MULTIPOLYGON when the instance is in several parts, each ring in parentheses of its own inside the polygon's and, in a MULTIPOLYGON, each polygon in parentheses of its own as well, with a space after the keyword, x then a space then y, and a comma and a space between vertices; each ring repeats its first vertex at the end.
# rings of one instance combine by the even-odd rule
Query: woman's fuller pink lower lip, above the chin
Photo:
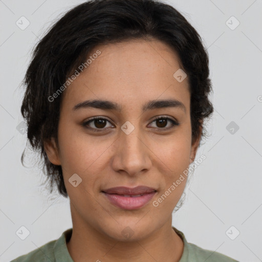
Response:
POLYGON ((120 207, 126 210, 138 209, 146 205, 152 197, 156 194, 156 192, 147 193, 141 195, 140 197, 124 197, 120 194, 107 194, 103 192, 106 198, 115 206, 120 207))

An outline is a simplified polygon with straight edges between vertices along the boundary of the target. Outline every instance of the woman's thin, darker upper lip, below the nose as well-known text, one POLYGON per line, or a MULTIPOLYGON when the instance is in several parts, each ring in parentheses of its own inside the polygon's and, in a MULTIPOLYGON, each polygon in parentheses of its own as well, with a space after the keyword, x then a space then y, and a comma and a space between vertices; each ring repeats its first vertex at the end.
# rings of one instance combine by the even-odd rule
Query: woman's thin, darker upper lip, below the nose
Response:
POLYGON ((118 187, 112 187, 105 190, 102 190, 102 192, 105 192, 107 194, 124 194, 124 195, 137 195, 137 194, 146 194, 146 193, 152 193, 156 192, 157 190, 148 187, 148 186, 136 186, 136 187, 125 187, 125 186, 118 186, 118 187))

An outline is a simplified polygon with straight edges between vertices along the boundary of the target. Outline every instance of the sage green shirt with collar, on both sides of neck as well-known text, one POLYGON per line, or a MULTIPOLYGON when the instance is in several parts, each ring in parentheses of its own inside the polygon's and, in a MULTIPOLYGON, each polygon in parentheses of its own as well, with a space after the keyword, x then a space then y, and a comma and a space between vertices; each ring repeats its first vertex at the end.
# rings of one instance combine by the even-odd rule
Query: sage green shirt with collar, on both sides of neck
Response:
MULTIPOLYGON (((184 242, 184 250, 179 262, 238 262, 221 253, 205 250, 188 243, 181 231, 174 227, 172 228, 184 242)), ((67 248, 67 242, 72 235, 72 230, 72 228, 65 230, 58 239, 42 245, 39 249, 21 255, 11 262, 74 262, 67 248)))

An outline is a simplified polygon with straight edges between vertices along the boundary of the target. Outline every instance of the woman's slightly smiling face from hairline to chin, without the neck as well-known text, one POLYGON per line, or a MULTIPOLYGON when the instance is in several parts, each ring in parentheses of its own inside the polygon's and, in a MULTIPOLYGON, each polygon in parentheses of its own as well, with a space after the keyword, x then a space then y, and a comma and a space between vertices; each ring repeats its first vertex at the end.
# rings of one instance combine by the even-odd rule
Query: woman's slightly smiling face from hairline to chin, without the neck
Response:
POLYGON ((161 41, 132 40, 100 45, 93 53, 97 50, 101 54, 63 93, 59 151, 54 141, 45 149, 62 167, 73 225, 118 241, 126 232, 141 239, 170 221, 186 185, 186 179, 176 181, 195 157, 199 141, 191 140, 188 79, 173 77, 181 68, 178 56, 161 41), (86 100, 118 107, 93 107, 82 103, 86 100), (174 102, 154 103, 160 100, 174 102), (107 190, 137 186, 149 191, 107 190))

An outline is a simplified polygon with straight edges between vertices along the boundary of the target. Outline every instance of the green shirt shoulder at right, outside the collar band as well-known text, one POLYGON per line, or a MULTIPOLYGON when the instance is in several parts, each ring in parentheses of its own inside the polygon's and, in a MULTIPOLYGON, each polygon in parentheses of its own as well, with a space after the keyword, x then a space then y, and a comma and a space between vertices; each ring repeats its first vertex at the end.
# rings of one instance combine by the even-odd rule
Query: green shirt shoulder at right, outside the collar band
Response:
POLYGON ((202 249, 191 243, 188 243, 187 245, 188 245, 188 255, 191 259, 193 259, 192 261, 197 262, 197 261, 204 261, 206 259, 208 262, 238 262, 237 260, 230 258, 226 255, 223 255, 221 253, 207 250, 207 249, 202 249))

